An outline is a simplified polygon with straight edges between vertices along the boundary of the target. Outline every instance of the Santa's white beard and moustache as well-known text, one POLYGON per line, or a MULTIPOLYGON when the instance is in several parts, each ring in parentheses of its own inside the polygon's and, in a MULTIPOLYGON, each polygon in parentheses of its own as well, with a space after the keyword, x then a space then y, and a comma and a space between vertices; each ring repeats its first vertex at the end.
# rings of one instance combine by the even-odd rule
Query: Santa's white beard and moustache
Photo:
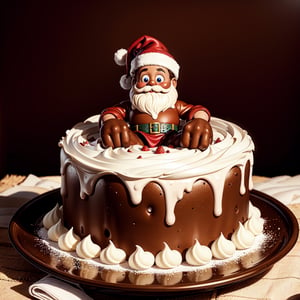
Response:
POLYGON ((161 86, 145 86, 138 89, 134 85, 130 90, 132 109, 147 113, 154 120, 157 119, 160 112, 174 108, 177 98, 178 93, 173 85, 169 89, 163 89, 161 86), (156 92, 149 92, 151 90, 156 92))

